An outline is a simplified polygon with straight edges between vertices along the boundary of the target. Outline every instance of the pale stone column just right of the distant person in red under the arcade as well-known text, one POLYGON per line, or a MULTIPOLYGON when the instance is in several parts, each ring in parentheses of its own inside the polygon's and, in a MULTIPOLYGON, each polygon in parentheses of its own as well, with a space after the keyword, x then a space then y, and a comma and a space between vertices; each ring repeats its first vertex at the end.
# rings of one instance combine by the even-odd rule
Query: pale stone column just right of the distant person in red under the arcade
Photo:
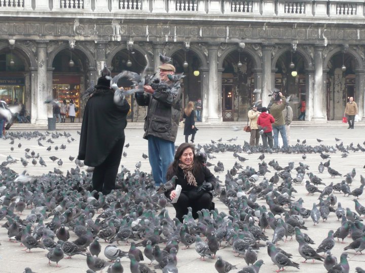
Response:
MULTIPOLYGON (((314 53, 314 96, 313 120, 327 120, 325 111, 325 88, 323 88, 323 49, 322 45, 315 47, 314 53)), ((325 80, 324 80, 325 82, 325 80)))

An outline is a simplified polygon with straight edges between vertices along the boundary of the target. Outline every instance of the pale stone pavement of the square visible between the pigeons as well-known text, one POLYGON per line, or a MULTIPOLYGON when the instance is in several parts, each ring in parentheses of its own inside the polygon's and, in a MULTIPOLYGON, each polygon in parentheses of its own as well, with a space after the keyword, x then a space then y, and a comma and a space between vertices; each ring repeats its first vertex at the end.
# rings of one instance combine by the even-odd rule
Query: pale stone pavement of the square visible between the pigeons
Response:
MULTIPOLYGON (((63 132, 63 131, 61 131, 63 132)), ((56 162, 52 162, 49 159, 49 156, 54 155, 63 160, 63 165, 60 167, 62 171, 66 171, 71 167, 75 167, 74 162, 70 162, 68 157, 76 156, 78 151, 78 143, 79 143, 79 135, 76 133, 76 130, 69 131, 76 139, 75 142, 67 143, 66 138, 59 138, 55 140, 55 143, 52 144, 51 152, 46 151, 46 148, 49 146, 48 143, 43 141, 42 143, 45 147, 38 146, 36 139, 32 139, 30 141, 27 140, 15 140, 14 145, 10 145, 10 140, 0 140, 0 162, 4 161, 8 155, 11 155, 13 158, 20 159, 20 157, 24 157, 24 149, 30 148, 30 150, 34 150, 35 153, 40 153, 40 156, 47 163, 47 167, 41 167, 39 164, 36 166, 32 166, 29 162, 26 170, 30 175, 40 175, 42 173, 47 173, 50 170, 53 170, 54 167, 58 167, 56 162), (18 144, 21 143, 22 147, 18 148, 18 144), (65 150, 58 150, 57 152, 53 150, 53 148, 61 144, 66 145, 65 150), (11 146, 14 147, 14 151, 11 151, 11 146)), ((365 141, 364 137, 365 130, 363 128, 355 128, 354 130, 347 130, 345 127, 306 127, 300 128, 295 127, 291 129, 291 144, 295 145, 297 143, 297 139, 303 141, 306 139, 307 145, 317 145, 316 139, 322 139, 322 144, 324 145, 335 145, 335 137, 341 139, 344 145, 350 145, 353 143, 356 146, 358 143, 361 146, 364 146, 362 143, 365 141)), ((130 143, 130 147, 128 149, 124 149, 127 153, 127 157, 122 158, 122 163, 125 167, 130 170, 135 168, 135 163, 137 161, 142 162, 141 170, 143 171, 150 171, 150 165, 148 160, 144 160, 142 158, 142 152, 147 153, 147 141, 142 139, 143 131, 142 129, 126 129, 126 143, 130 143)), ((197 135, 196 135, 196 143, 199 144, 210 144, 210 140, 217 141, 220 138, 223 138, 223 143, 228 143, 226 140, 235 138, 237 136, 237 141, 234 142, 235 144, 243 144, 243 141, 249 140, 249 133, 245 133, 242 130, 240 131, 232 131, 228 128, 201 128, 197 135)), ((176 145, 180 144, 184 141, 184 135, 182 135, 182 129, 179 129, 178 137, 176 141, 176 145)), ((221 161, 224 163, 225 169, 232 168, 236 159, 233 157, 232 152, 214 154, 216 159, 209 160, 209 162, 215 164, 217 161, 221 161)), ((244 166, 249 165, 258 169, 258 160, 259 154, 241 154, 248 158, 244 164, 244 166)), ((298 166, 299 162, 304 162, 310 166, 309 171, 312 171, 314 174, 318 175, 320 178, 323 179, 323 182, 326 185, 329 185, 331 181, 335 184, 340 182, 343 178, 336 177, 330 178, 329 173, 325 170, 322 174, 318 173, 317 166, 320 161, 323 161, 318 154, 307 154, 307 159, 302 159, 302 154, 266 154, 265 161, 269 162, 270 160, 275 159, 279 162, 280 166, 286 166, 289 161, 295 162, 295 167, 298 166)), ((365 164, 365 155, 362 152, 350 152, 347 158, 341 158, 341 153, 337 152, 331 154, 331 167, 338 170, 342 174, 346 174, 350 172, 352 168, 356 168, 356 176, 355 180, 351 185, 351 189, 357 188, 360 185, 359 176, 362 174, 365 175, 363 166, 365 164)), ((19 162, 10 165, 10 167, 17 171, 21 172, 24 170, 24 167, 19 162)), ((266 177, 270 178, 274 174, 274 170, 269 167, 271 173, 267 173, 266 177)), ((213 172, 213 167, 211 167, 213 172)), ((292 173, 295 176, 296 171, 292 173)), ((224 173, 216 174, 219 175, 220 180, 224 181, 224 173)), ((260 177, 259 182, 262 180, 260 177)), ((298 193, 294 193, 294 199, 297 200, 302 197, 305 201, 304 207, 311 209, 313 202, 318 202, 317 198, 319 194, 315 194, 314 196, 306 195, 307 191, 305 190, 305 183, 302 185, 295 186, 295 189, 298 193)), ((319 186, 320 189, 323 189, 324 186, 319 186)), ((354 202, 352 201, 352 197, 344 197, 343 194, 336 193, 335 194, 338 202, 341 202, 342 207, 346 208, 349 207, 351 210, 354 211, 354 202)), ((365 205, 365 195, 359 197, 359 202, 362 205, 365 205)), ((225 211, 228 213, 227 207, 220 202, 217 198, 214 199, 216 204, 216 208, 219 211, 225 211)), ((260 205, 265 204, 265 200, 258 200, 260 205)), ((268 206, 267 206, 268 207, 268 206)), ((174 216, 174 210, 172 207, 168 208, 169 215, 171 217, 174 216)), ((26 214, 29 213, 29 209, 23 213, 22 216, 25 218, 26 214)), ((5 220, 0 221, 0 224, 3 224, 5 220)), ((46 222, 46 221, 45 221, 46 222)), ((308 227, 308 231, 305 231, 315 242, 315 245, 311 245, 314 249, 321 243, 321 241, 326 238, 327 232, 331 229, 336 231, 337 228, 340 226, 340 222, 337 220, 337 217, 334 213, 331 213, 329 219, 326 222, 320 221, 320 223, 316 226, 313 226, 313 222, 311 219, 306 219, 305 225, 308 227)), ((269 239, 272 239, 273 231, 271 229, 267 230, 267 236, 269 239)), ((71 239, 75 239, 75 235, 71 232, 71 239)), ((343 248, 349 244, 352 240, 350 238, 346 238, 346 244, 341 244, 336 242, 332 253, 338 258, 343 251, 343 248)), ((34 249, 31 253, 25 253, 22 251, 23 247, 19 246, 19 243, 11 243, 8 241, 7 230, 4 228, 0 228, 0 272, 23 272, 24 267, 29 266, 35 272, 85 272, 88 267, 86 265, 86 257, 77 255, 74 256, 70 260, 61 260, 59 264, 61 267, 56 268, 55 264, 48 265, 48 259, 45 257, 47 251, 43 249, 34 249)), ((106 243, 102 244, 102 252, 100 253, 99 257, 105 258, 103 255, 103 249, 107 245, 106 243)), ((287 252, 290 252, 294 255, 293 260, 295 262, 300 263, 304 259, 300 256, 298 252, 298 243, 294 239, 293 241, 288 241, 286 243, 280 242, 280 247, 287 252)), ((223 244, 224 245, 224 244, 223 244)), ((119 246, 122 250, 128 251, 129 246, 120 245, 119 246)), ((140 248, 143 250, 143 248, 140 248)), ((350 264, 350 272, 354 272, 356 266, 361 266, 365 269, 365 258, 363 255, 355 255, 353 250, 347 251, 349 255, 349 264, 350 264)), ((223 259, 231 262, 232 264, 237 265, 237 268, 242 268, 245 266, 245 261, 240 255, 239 257, 235 257, 232 247, 222 247, 218 250, 217 255, 221 255, 223 259)), ((258 252, 258 258, 264 260, 264 265, 261 267, 261 272, 271 272, 277 269, 277 266, 273 265, 270 258, 267 255, 267 250, 265 248, 260 248, 258 252)), ((182 246, 180 244, 180 250, 177 254, 177 267, 179 272, 215 272, 214 263, 216 259, 207 259, 206 261, 200 261, 199 255, 196 253, 194 245, 191 246, 188 250, 182 250, 182 246)), ((147 258, 145 258, 145 263, 149 262, 147 258)), ((156 263, 156 262, 155 262, 156 263)), ((122 258, 122 265, 124 267, 124 272, 130 272, 129 269, 129 260, 127 258, 122 258)), ((308 261, 307 263, 300 263, 300 269, 294 267, 285 267, 287 272, 304 272, 306 270, 316 270, 317 272, 325 272, 322 262, 315 261, 312 264, 312 261, 308 261)), ((106 271, 106 270, 104 270, 106 271)), ((161 272, 161 270, 156 270, 157 272, 161 272)), ((232 270, 231 272, 237 272, 238 270, 232 270)))

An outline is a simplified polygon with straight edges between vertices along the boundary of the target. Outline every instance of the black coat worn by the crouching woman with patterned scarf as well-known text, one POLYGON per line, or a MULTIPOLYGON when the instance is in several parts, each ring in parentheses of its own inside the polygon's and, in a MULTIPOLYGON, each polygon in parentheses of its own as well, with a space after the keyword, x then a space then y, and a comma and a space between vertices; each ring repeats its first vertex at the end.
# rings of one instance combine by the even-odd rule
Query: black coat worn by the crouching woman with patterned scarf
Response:
MULTIPOLYGON (((202 166, 201 171, 199 171, 199 173, 195 175, 195 181, 197 183, 197 187, 188 184, 188 180, 186 179, 185 173, 180 167, 177 167, 177 173, 173 173, 171 175, 171 177, 173 175, 177 176, 177 179, 175 181, 176 185, 180 185, 181 192, 185 192, 185 193, 188 193, 188 192, 196 193, 198 191, 199 187, 202 186, 204 182, 211 183, 214 188, 216 185, 215 176, 205 166, 202 166)), ((171 177, 169 177, 169 174, 167 175, 168 180, 171 179, 171 177)), ((171 191, 165 193, 167 198, 169 198, 171 191)), ((188 196, 189 196, 189 194, 188 194, 188 196)))

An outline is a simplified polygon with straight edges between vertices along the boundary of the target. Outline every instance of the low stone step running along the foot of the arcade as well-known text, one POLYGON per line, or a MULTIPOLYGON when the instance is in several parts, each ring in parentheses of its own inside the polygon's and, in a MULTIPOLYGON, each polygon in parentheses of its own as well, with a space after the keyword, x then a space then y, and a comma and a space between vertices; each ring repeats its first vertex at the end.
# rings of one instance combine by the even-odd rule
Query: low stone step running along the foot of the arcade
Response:
MULTIPOLYGON (((247 122, 220 122, 220 123, 208 123, 208 122, 197 122, 198 128, 230 128, 237 127, 243 128, 247 122)), ((291 127, 346 127, 347 123, 342 123, 341 120, 329 120, 329 121, 293 121, 290 124, 291 127)), ((355 127, 365 127, 365 121, 355 122, 355 127)), ((127 128, 143 128, 143 122, 128 122, 127 128)), ((11 130, 47 130, 47 124, 19 124, 15 123, 11 127, 11 130)), ((57 123, 56 130, 81 130, 81 123, 57 123)))

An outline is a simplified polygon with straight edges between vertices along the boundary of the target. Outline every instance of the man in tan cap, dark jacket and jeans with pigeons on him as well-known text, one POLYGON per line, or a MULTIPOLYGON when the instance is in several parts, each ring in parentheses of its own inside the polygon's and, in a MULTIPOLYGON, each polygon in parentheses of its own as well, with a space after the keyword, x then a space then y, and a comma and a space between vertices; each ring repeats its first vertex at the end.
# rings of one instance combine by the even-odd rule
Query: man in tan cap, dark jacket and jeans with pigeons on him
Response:
MULTIPOLYGON (((169 83, 167 75, 175 73, 171 64, 159 66, 160 80, 169 83)), ((148 106, 144 118, 143 138, 148 140, 149 160, 155 185, 166 183, 166 172, 174 159, 175 140, 182 108, 181 87, 175 93, 164 93, 144 85, 144 93, 136 93, 139 106, 148 106)))

